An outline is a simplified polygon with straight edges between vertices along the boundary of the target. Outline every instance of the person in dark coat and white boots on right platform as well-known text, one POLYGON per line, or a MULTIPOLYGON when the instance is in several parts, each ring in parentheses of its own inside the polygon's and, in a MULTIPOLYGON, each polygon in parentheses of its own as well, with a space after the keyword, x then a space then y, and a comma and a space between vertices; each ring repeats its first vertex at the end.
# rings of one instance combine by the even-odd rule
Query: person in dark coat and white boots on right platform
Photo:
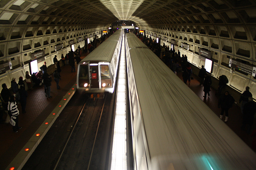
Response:
POLYGON ((225 111, 225 114, 226 114, 225 122, 228 121, 228 109, 232 107, 234 102, 235 102, 234 98, 229 94, 228 91, 226 91, 224 95, 220 97, 218 102, 218 108, 221 108, 220 119, 222 119, 225 111))

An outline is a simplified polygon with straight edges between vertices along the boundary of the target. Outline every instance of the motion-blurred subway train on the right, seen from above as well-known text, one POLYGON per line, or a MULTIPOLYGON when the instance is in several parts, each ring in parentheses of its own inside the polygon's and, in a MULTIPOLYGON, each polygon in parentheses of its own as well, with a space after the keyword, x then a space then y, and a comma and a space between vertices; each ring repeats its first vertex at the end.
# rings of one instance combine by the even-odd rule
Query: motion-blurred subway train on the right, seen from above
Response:
POLYGON ((125 43, 135 170, 256 169, 256 153, 136 35, 125 43))

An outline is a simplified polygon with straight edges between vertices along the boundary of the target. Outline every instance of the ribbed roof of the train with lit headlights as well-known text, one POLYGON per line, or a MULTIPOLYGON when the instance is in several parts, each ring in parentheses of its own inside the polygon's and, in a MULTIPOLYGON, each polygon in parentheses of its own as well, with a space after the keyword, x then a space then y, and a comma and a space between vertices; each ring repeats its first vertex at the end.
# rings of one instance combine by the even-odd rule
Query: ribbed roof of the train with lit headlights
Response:
MULTIPOLYGON (((121 33, 119 31, 119 33, 121 33)), ((88 54, 81 62, 88 61, 105 61, 110 62, 120 34, 111 35, 102 44, 100 44, 96 49, 94 49, 90 54, 88 54)))

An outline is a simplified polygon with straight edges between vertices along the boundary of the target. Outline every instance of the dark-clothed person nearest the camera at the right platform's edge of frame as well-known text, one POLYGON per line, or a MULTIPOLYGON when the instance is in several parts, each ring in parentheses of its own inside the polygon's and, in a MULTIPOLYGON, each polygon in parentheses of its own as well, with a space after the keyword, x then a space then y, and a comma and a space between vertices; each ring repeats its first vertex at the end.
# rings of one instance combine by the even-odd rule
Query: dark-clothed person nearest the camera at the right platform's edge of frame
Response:
POLYGON ((246 125, 249 127, 247 129, 247 133, 250 133, 253 125, 254 114, 256 112, 256 103, 253 101, 252 97, 248 98, 248 102, 244 105, 243 109, 243 124, 241 129, 245 130, 246 125))

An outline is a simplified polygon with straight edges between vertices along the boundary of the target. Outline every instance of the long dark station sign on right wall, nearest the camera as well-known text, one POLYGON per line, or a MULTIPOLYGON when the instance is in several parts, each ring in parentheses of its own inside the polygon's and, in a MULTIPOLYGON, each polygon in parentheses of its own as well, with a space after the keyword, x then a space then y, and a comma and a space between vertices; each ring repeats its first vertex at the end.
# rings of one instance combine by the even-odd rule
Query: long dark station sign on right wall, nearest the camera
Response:
POLYGON ((256 67, 229 59, 229 66, 255 77, 256 67))

